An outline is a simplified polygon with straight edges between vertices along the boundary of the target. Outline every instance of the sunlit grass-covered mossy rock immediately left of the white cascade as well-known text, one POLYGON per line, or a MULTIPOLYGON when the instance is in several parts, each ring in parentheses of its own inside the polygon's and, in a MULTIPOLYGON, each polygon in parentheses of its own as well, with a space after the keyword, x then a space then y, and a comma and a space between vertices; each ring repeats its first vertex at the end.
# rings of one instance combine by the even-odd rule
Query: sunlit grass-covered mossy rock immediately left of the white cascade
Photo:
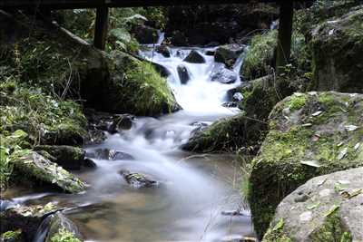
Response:
POLYGON ((129 112, 142 116, 157 116, 177 111, 172 90, 166 79, 156 72, 151 63, 142 62, 130 54, 110 54, 108 100, 103 105, 112 111, 129 112))

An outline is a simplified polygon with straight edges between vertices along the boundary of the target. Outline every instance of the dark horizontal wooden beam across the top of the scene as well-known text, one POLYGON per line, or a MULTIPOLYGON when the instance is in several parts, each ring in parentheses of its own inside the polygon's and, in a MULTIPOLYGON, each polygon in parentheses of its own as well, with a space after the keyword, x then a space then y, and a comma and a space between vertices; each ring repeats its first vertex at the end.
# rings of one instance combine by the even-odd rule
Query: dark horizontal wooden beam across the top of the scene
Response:
MULTIPOLYGON (((99 7, 132 7, 157 5, 228 5, 249 3, 273 3, 284 0, 0 0, 0 9, 76 9, 99 7)), ((293 0, 311 2, 311 0, 293 0)))

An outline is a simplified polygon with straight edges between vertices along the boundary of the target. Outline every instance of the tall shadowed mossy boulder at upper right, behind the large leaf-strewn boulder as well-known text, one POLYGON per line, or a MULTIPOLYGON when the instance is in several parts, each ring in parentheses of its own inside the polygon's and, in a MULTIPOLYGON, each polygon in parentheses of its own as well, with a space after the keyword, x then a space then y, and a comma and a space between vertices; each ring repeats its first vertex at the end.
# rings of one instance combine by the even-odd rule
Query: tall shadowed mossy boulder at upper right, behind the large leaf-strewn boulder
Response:
POLYGON ((313 90, 363 92, 363 7, 319 24, 311 48, 313 90))

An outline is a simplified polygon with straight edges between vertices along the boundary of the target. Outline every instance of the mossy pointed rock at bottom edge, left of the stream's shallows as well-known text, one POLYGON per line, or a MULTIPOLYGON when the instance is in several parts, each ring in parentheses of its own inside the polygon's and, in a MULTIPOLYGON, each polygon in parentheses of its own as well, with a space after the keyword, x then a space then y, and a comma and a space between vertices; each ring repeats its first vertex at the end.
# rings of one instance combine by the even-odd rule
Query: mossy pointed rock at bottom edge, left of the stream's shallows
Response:
POLYGON ((53 242, 54 237, 59 237, 65 233, 72 234, 73 239, 77 238, 79 239, 78 241, 83 241, 83 237, 78 230, 78 227, 72 220, 66 218, 62 212, 56 212, 51 215, 48 226, 48 232, 44 242, 53 242))

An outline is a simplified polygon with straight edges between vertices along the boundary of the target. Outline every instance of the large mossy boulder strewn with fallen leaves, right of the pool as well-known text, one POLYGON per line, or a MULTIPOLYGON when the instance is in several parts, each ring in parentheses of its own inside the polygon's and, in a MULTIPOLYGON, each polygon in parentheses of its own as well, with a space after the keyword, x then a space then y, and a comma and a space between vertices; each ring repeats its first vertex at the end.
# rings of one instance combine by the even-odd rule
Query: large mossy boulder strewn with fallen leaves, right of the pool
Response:
POLYGON ((270 113, 270 131, 252 161, 249 201, 261 237, 274 210, 308 179, 363 165, 363 95, 295 93, 270 113))

